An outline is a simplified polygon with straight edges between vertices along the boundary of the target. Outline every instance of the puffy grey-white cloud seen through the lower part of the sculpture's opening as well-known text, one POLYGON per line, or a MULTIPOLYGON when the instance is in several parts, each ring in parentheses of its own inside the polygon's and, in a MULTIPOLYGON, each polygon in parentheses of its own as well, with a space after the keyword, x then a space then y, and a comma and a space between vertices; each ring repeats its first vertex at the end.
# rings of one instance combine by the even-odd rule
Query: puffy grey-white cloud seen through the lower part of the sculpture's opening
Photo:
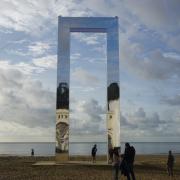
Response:
POLYGON ((98 101, 76 101, 71 105, 72 134, 102 134, 106 132, 105 108, 98 101))

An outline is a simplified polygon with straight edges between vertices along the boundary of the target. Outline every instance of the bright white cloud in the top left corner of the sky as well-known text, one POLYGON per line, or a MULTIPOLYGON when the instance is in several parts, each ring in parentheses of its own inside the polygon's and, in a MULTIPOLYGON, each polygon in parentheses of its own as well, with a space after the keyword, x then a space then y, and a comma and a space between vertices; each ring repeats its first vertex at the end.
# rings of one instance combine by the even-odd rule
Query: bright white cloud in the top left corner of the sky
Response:
MULTIPOLYGON (((48 4, 47 4, 48 5, 48 4)), ((31 34, 45 28, 47 6, 42 1, 1 1, 0 26, 31 34), (39 6, 39 7, 38 7, 39 6)))

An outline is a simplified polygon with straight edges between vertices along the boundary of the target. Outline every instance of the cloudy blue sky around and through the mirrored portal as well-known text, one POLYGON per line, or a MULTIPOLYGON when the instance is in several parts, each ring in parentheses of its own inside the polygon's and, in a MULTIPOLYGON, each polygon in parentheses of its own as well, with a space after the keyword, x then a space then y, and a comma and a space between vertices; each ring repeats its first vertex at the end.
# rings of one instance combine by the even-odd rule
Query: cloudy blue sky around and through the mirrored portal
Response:
MULTIPOLYGON (((179 0, 1 0, 0 141, 55 139, 58 15, 119 17, 121 140, 178 141, 179 0)), ((72 34, 74 134, 105 132, 105 52, 105 35, 72 34)))

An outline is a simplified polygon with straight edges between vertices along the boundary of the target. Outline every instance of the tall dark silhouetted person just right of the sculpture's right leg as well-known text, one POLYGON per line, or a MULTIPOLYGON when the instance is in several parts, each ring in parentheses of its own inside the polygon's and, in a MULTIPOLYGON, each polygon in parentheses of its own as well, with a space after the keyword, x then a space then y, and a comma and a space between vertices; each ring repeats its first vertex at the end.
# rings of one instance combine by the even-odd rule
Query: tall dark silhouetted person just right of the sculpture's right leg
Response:
MULTIPOLYGON (((135 158, 136 150, 133 146, 130 146, 129 143, 125 144, 125 152, 124 152, 124 162, 127 164, 128 172, 132 177, 132 180, 136 180, 134 175, 134 158, 135 158)), ((127 179, 130 178, 127 176, 127 179)))

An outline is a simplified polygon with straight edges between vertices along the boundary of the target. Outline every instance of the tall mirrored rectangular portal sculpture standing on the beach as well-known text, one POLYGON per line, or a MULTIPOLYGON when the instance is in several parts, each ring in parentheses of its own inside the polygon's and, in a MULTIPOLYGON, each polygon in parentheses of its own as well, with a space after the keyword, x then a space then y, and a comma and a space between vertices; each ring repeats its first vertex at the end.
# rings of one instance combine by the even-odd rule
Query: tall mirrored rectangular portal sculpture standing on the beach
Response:
POLYGON ((61 17, 58 22, 56 161, 69 159, 70 33, 107 33, 108 152, 120 147, 119 37, 117 17, 61 17))

